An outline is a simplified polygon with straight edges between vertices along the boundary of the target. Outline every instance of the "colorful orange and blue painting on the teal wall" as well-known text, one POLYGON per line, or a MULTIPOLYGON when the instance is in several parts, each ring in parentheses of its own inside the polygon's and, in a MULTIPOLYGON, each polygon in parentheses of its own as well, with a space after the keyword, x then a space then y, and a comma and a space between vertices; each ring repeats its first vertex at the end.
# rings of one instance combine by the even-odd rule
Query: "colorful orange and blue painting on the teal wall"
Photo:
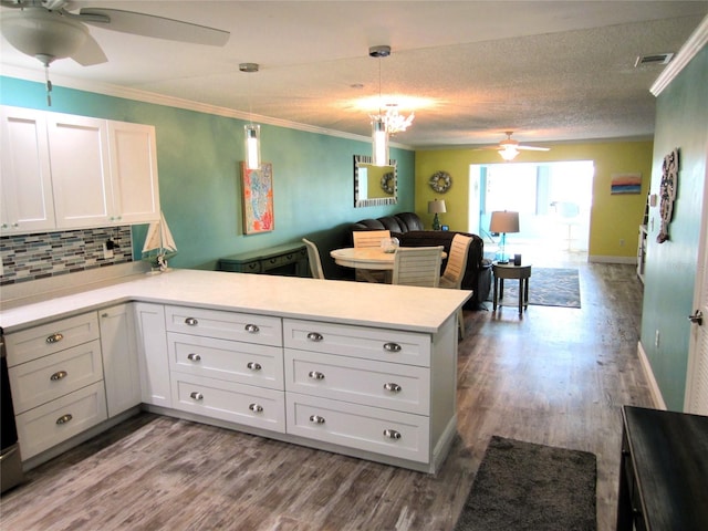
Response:
POLYGON ((261 164, 259 169, 248 169, 241 163, 243 190, 243 233, 269 232, 273 219, 273 166, 261 164))

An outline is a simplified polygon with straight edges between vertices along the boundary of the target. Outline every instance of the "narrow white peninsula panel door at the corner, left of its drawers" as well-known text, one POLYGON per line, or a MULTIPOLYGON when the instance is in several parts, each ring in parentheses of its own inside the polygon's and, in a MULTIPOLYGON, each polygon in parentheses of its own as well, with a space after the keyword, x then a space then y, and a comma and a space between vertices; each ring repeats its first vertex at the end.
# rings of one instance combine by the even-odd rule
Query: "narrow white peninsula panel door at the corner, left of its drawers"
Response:
POLYGON ((165 308, 147 302, 136 302, 133 308, 135 309, 143 402, 171 407, 165 308))

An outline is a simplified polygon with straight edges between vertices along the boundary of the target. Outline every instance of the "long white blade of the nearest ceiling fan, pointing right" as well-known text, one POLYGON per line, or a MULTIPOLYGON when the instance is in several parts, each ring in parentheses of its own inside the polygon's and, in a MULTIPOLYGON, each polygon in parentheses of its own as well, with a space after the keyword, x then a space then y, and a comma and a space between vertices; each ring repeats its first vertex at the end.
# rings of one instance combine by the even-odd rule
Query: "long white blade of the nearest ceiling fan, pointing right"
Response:
POLYGON ((210 46, 223 46, 231 37, 228 31, 206 25, 119 9, 83 8, 79 12, 79 17, 83 22, 94 24, 97 28, 105 28, 106 30, 210 46), (86 17, 84 18, 84 15, 86 17), (91 17, 96 15, 108 17, 110 22, 106 24, 91 19, 91 17))

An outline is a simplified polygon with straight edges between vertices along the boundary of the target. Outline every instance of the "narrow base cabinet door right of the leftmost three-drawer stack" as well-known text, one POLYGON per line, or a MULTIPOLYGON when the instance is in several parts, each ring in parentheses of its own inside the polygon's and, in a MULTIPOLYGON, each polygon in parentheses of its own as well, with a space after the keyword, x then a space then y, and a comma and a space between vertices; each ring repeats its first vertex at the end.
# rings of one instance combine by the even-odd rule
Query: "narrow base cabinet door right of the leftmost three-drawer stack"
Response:
POLYGON ((142 402, 133 306, 121 304, 98 314, 108 417, 114 417, 142 402))

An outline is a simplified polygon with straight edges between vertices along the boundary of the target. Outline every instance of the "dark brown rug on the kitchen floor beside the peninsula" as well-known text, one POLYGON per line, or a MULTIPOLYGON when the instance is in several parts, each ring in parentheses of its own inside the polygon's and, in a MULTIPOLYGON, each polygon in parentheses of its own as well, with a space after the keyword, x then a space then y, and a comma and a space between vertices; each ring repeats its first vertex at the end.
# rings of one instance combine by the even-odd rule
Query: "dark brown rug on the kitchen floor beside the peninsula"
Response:
POLYGON ((492 436, 455 531, 596 530, 594 454, 492 436))

